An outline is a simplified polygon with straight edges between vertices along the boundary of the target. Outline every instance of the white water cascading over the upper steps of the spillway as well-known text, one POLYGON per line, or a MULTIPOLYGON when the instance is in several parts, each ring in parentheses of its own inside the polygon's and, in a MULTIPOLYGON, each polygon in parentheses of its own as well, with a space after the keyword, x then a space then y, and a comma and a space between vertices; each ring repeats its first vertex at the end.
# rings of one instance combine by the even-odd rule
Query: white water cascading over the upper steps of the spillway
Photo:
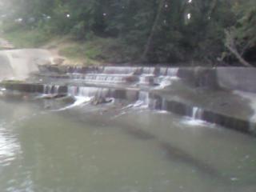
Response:
POLYGON ((129 67, 105 66, 95 68, 68 68, 66 73, 70 79, 88 84, 131 84, 142 86, 159 85, 158 88, 170 86, 178 79, 178 68, 168 67, 129 67))

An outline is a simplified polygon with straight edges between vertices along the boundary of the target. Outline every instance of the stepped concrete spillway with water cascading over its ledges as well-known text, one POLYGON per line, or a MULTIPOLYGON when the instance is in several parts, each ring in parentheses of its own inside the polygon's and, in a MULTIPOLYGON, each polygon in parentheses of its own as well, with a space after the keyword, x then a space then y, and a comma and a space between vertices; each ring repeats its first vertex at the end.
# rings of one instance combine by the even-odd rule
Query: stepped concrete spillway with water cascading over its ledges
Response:
MULTIPOLYGON (((166 110, 245 133, 254 132, 256 125, 252 122, 255 110, 250 101, 232 93, 238 85, 226 83, 222 68, 39 66, 39 71, 31 80, 38 81, 37 84, 12 83, 5 88, 39 94, 128 100, 134 103, 133 106, 166 110)), ((235 75, 230 74, 230 78, 235 80, 235 75)))

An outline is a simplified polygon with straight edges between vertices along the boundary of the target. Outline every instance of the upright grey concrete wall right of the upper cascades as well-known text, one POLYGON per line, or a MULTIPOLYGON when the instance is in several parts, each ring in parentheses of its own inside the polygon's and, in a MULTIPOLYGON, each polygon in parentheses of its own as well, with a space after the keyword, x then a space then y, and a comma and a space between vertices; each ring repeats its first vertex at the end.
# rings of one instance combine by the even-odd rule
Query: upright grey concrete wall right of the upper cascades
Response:
POLYGON ((178 70, 178 77, 190 86, 241 90, 256 94, 256 68, 182 67, 178 70))

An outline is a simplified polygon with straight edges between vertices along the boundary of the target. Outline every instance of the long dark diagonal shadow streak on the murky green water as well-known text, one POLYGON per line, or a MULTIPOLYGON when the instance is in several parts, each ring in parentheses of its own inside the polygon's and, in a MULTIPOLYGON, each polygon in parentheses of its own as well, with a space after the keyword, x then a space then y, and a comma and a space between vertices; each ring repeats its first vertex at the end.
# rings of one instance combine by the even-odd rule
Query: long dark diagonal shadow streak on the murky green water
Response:
MULTIPOLYGON (((66 111, 67 112, 67 111, 66 111)), ((190 154, 186 153, 186 151, 178 148, 177 146, 173 146, 170 142, 161 141, 155 134, 152 134, 146 130, 142 130, 137 126, 131 126, 130 124, 124 123, 122 121, 118 121, 117 119, 110 121, 110 116, 108 114, 98 115, 93 117, 81 117, 79 118, 78 114, 71 113, 71 111, 64 114, 69 114, 69 118, 72 117, 77 122, 85 123, 85 122, 97 122, 97 124, 101 124, 102 127, 110 126, 110 127, 118 127, 125 134, 129 134, 131 137, 141 140, 151 140, 154 141, 154 145, 156 145, 159 150, 162 150, 165 153, 165 158, 170 162, 179 162, 184 163, 184 166, 192 166, 195 170, 198 170, 202 174, 206 174, 210 178, 221 180, 222 182, 230 182, 230 179, 224 178, 224 176, 213 166, 207 164, 206 162, 202 162, 201 160, 194 158, 190 154), (100 119, 100 121, 99 121, 100 119)))

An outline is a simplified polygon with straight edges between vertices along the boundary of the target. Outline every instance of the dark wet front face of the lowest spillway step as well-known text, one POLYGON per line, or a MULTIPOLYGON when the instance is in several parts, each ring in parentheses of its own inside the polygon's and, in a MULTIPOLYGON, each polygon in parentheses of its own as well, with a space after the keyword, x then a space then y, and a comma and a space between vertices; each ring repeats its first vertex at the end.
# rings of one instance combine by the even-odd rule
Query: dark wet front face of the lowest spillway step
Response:
MULTIPOLYGON (((57 86, 52 85, 42 85, 42 84, 31 84, 31 83, 1 83, 0 86, 6 88, 6 90, 17 90, 26 93, 38 93, 38 94, 70 94, 68 86, 58 86, 58 92, 56 92, 57 86), (45 91, 47 90, 47 93, 45 91)), ((84 87, 86 88, 86 87, 84 87)), ((140 91, 137 89, 120 89, 120 88, 101 88, 107 89, 108 92, 106 97, 124 99, 129 102, 135 102, 139 99, 140 91)), ((95 94, 97 95, 97 94, 95 94)), ((76 96, 76 95, 74 95, 76 96)), ((211 122, 218 124, 220 126, 226 127, 231 130, 238 130, 242 133, 255 134, 255 123, 250 122, 250 119, 240 119, 232 117, 229 114, 218 113, 218 111, 210 109, 200 109, 200 115, 194 114, 194 109, 197 108, 191 104, 185 102, 166 100, 166 98, 157 94, 156 92, 150 92, 149 94, 150 109, 154 110, 166 110, 174 114, 181 116, 193 117, 194 115, 197 119, 204 120, 206 122, 211 122)))

